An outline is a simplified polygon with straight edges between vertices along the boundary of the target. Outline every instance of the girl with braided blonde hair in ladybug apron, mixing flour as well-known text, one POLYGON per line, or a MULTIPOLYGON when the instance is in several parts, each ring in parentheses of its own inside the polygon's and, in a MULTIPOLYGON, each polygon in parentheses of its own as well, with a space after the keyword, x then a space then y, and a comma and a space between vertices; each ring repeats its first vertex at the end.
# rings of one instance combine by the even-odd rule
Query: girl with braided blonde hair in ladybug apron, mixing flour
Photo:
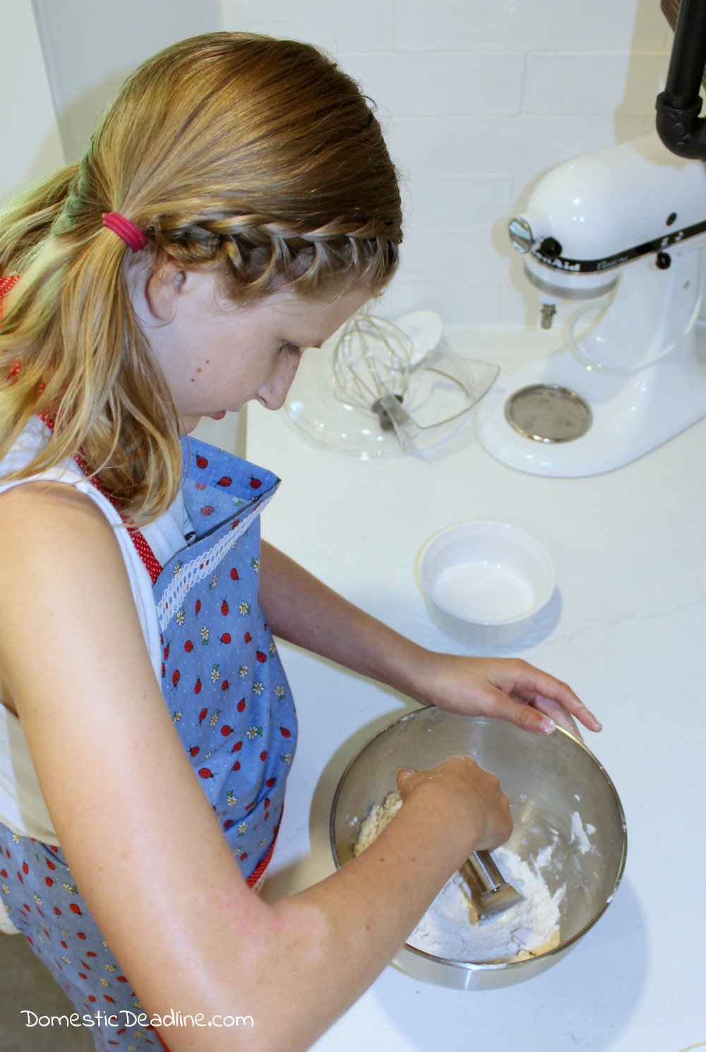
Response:
POLYGON ((400 223, 357 85, 234 34, 138 69, 3 218, 0 899, 98 1049, 155 1049, 169 1013, 173 1052, 307 1048, 509 835, 471 760, 404 770, 376 845, 263 903, 296 741, 273 633, 421 704, 599 729, 524 662, 428 653, 260 550, 278 480, 180 441, 278 409, 392 277, 400 223))

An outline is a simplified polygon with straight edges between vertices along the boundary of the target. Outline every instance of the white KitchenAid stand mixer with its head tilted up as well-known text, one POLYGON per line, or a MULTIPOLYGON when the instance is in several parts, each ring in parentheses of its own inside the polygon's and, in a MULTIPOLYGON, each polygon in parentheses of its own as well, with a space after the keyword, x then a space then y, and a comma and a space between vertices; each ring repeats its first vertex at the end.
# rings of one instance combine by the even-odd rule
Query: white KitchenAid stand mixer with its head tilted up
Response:
POLYGON ((542 294, 583 303, 566 345, 502 376, 479 417, 483 445, 534 474, 599 474, 706 416, 699 321, 706 169, 657 135, 551 169, 510 222, 542 294))

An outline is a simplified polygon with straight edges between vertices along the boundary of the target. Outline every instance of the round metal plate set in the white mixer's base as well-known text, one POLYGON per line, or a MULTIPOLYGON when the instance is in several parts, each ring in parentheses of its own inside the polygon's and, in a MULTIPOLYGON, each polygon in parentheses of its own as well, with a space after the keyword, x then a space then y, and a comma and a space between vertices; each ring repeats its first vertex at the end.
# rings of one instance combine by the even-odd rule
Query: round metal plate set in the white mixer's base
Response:
POLYGON ((505 419, 534 442, 572 442, 586 433, 593 418, 589 405, 568 387, 532 384, 508 398, 505 419))

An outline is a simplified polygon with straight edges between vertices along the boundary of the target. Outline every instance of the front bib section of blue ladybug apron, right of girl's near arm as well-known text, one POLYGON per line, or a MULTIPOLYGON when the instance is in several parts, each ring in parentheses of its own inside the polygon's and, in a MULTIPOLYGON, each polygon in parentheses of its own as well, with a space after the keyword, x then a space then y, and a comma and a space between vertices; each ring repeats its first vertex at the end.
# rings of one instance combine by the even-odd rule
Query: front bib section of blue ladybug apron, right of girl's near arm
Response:
POLYGON ((196 443, 185 465, 196 537, 154 586, 162 691, 247 878, 273 844, 296 745, 291 692, 258 602, 259 514, 279 480, 196 443))

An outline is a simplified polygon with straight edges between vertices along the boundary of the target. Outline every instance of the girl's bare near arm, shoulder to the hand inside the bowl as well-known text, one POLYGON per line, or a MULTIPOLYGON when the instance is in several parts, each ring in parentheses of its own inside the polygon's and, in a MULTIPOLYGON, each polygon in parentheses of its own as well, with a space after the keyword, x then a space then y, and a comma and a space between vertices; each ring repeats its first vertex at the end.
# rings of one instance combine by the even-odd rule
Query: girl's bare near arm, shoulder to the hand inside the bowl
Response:
POLYGON ((510 832, 497 781, 456 758, 402 780, 378 842, 267 905, 246 887, 145 650, 120 549, 67 486, 0 498, 0 667, 62 848, 172 1052, 306 1049, 376 977, 475 847, 510 832))

